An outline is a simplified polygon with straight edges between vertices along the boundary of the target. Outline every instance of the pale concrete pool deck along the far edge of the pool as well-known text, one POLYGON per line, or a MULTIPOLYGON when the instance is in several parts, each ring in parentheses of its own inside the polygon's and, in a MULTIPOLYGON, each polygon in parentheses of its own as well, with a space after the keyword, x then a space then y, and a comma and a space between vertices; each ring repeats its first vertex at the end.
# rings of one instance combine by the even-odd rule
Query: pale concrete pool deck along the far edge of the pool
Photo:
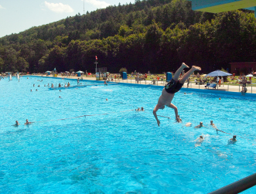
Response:
MULTIPOLYGON (((39 75, 37 75, 39 76, 39 75)), ((46 77, 46 75, 43 75, 41 77, 46 77)), ((47 76, 47 77, 53 77, 53 76, 47 76)), ((77 80, 77 78, 83 78, 83 80, 96 80, 95 77, 76 77, 76 76, 70 76, 70 77, 62 77, 62 76, 58 76, 55 78, 61 78, 61 79, 75 79, 77 80)), ((101 82, 103 80, 100 80, 101 82)), ((138 83, 135 79, 127 79, 127 80, 122 80, 120 79, 114 79, 113 80, 116 83, 132 83, 132 84, 138 84, 138 85, 152 85, 152 86, 161 86, 164 87, 164 85, 166 84, 165 80, 162 81, 155 81, 155 84, 152 84, 153 81, 152 80, 140 80, 138 83)), ((241 95, 241 90, 242 90, 242 86, 234 86, 234 85, 229 85, 229 84, 224 84, 224 86, 217 86, 216 89, 210 88, 210 89, 206 89, 205 88, 205 84, 204 85, 199 85, 196 83, 189 83, 189 88, 187 88, 187 83, 184 83, 183 85, 183 89, 186 90, 186 88, 189 89, 193 89, 193 90, 203 90, 203 92, 209 92, 209 93, 221 93, 221 94, 234 94, 237 93, 238 95, 241 95)), ((236 95, 237 95, 236 94, 236 95)), ((247 94, 245 94, 246 96, 251 96, 251 97, 256 97, 256 83, 253 84, 247 84, 247 94), (255 95, 247 95, 247 94, 255 94, 255 95)))

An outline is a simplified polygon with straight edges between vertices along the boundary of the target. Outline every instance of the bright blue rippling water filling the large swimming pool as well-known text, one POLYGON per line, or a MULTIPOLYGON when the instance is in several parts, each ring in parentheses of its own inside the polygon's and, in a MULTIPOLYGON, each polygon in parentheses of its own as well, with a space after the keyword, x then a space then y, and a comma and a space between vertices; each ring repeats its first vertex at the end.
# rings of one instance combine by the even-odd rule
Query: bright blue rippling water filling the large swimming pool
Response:
POLYGON ((181 90, 172 103, 183 123, 166 108, 158 114, 170 119, 159 117, 158 127, 152 109, 161 88, 44 87, 67 81, 77 85, 0 81, 0 193, 207 193, 256 172, 254 98, 181 90), (145 112, 129 111, 138 107, 145 112), (36 122, 26 126, 26 119, 36 122), (217 134, 210 120, 229 134, 217 134), (200 121, 205 127, 193 128, 200 121))

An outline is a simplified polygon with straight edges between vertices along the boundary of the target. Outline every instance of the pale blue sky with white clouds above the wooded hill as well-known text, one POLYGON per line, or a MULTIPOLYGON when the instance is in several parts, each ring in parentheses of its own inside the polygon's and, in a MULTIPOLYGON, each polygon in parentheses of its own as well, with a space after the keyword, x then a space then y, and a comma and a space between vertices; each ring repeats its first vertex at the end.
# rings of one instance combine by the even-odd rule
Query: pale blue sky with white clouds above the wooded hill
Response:
MULTIPOLYGON (((0 37, 129 0, 0 0, 0 37)), ((134 3, 132 1, 131 3, 134 3)))

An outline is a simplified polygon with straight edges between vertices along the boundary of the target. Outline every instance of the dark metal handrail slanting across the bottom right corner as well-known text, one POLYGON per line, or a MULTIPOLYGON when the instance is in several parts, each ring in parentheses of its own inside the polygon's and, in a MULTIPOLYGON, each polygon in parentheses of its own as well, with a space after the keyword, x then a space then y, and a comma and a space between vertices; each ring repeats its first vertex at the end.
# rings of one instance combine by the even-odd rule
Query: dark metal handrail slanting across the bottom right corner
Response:
POLYGON ((237 182, 233 182, 230 185, 224 186, 223 188, 217 189, 214 192, 210 192, 209 194, 235 194, 243 192, 244 190, 249 189, 254 185, 256 185, 256 173, 249 175, 237 182))

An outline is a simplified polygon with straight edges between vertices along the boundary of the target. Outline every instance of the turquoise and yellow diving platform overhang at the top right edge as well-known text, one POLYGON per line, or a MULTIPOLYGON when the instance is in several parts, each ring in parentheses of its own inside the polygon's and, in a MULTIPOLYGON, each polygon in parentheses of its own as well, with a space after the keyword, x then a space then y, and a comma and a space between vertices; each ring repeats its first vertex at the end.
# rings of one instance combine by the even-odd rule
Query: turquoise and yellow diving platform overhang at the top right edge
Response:
POLYGON ((256 18, 255 0, 189 0, 192 9, 200 12, 228 12, 236 9, 248 9, 254 11, 256 18))

